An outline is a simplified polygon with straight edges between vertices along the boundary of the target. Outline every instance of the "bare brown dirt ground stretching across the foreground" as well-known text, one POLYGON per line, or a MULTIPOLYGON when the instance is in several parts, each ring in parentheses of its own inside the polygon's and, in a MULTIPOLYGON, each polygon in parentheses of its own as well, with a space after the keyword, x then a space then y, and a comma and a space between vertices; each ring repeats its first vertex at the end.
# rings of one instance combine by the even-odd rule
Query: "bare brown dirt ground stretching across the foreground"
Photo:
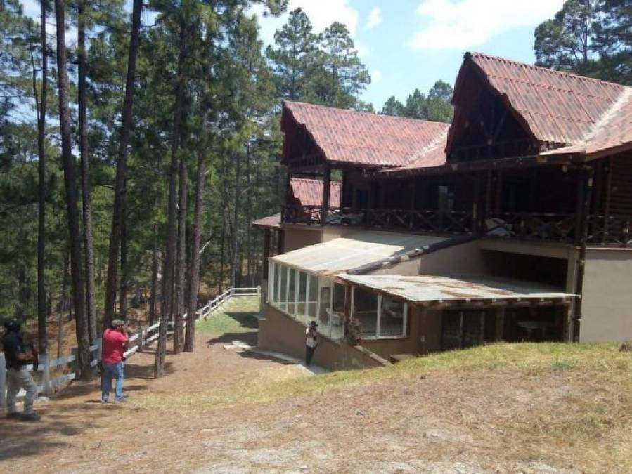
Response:
POLYGON ((626 472, 630 436, 583 431, 595 426, 583 407, 609 396, 594 374, 446 372, 227 404, 222 394, 308 376, 224 349, 256 343, 248 321, 247 332, 198 334, 160 380, 152 351, 132 357, 125 404, 104 406, 96 383, 77 383, 39 407, 41 423, 0 420, 0 472, 626 472))

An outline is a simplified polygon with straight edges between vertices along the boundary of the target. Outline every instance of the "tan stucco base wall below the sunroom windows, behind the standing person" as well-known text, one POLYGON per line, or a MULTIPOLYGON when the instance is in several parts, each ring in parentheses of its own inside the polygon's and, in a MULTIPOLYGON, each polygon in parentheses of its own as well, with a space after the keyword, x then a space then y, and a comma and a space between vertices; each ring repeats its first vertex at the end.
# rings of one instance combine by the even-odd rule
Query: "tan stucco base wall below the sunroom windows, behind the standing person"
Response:
MULTIPOLYGON (((305 326, 270 305, 263 306, 263 319, 259 320, 257 346, 280 353, 305 357, 305 326)), ((330 370, 381 367, 382 364, 367 353, 345 343, 318 336, 314 364, 330 370)))

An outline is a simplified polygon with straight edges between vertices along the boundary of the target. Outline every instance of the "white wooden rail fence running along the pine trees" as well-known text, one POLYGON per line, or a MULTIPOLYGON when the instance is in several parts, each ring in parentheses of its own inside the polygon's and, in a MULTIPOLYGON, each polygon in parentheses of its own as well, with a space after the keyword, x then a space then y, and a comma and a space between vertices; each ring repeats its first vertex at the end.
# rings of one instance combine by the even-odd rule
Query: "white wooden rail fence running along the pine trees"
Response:
MULTIPOLYGON (((221 295, 214 298, 212 301, 209 301, 207 305, 199 310, 195 311, 195 320, 206 320, 210 315, 213 314, 215 310, 217 310, 221 305, 226 303, 226 301, 231 298, 236 298, 239 296, 260 296, 261 295, 261 287, 252 287, 252 288, 231 288, 221 295)), ((182 315, 182 319, 184 320, 184 327, 186 327, 186 313, 182 315)), ((169 326, 167 327, 167 331, 171 332, 173 329, 173 322, 168 322, 169 326)), ((149 327, 139 327, 138 332, 129 338, 129 348, 125 351, 125 357, 131 357, 136 354, 138 351, 142 351, 143 348, 148 346, 157 340, 159 336, 160 322, 152 324, 149 327), (135 345, 131 345, 136 343, 135 345)), ((92 353, 92 367, 96 367, 99 361, 101 361, 101 338, 98 339, 93 345, 90 346, 90 352, 92 353)), ((52 393, 56 390, 56 388, 63 386, 70 381, 75 379, 75 368, 72 367, 76 361, 77 357, 77 348, 72 348, 72 354, 65 355, 58 359, 49 359, 46 356, 40 356, 39 365, 37 366, 37 371, 42 372, 41 382, 37 387, 37 393, 52 393), (55 369, 56 367, 63 367, 70 365, 71 371, 68 374, 63 374, 51 379, 51 369, 55 369)), ((33 370, 33 365, 30 364, 27 366, 27 369, 33 370)), ((18 397, 23 397, 23 390, 20 392, 18 397)), ((6 403, 6 361, 4 360, 4 354, 0 354, 0 407, 4 407, 6 403)))

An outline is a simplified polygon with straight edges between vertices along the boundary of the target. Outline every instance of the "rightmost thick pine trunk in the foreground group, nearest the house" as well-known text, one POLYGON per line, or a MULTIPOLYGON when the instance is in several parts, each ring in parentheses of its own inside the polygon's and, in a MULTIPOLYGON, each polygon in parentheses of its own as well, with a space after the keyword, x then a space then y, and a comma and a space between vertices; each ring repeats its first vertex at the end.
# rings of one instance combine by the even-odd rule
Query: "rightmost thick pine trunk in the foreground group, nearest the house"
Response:
POLYGON ((198 309, 198 289, 200 287, 200 245, 202 218, 204 215, 204 183, 206 180, 206 150, 198 149, 198 169, 195 172, 195 215, 193 218, 193 250, 191 251, 191 273, 189 274, 189 294, 186 318, 186 341, 184 350, 192 353, 195 348, 195 311, 198 309))

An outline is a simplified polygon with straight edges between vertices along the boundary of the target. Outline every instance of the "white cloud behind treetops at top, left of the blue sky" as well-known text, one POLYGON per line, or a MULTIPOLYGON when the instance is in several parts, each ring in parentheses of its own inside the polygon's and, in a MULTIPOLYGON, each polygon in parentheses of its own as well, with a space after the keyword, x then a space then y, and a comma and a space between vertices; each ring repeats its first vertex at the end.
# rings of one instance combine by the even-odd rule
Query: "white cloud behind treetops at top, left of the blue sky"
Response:
POLYGON ((278 18, 264 17, 264 8, 261 5, 253 6, 250 11, 259 17, 261 37, 264 44, 272 44, 274 32, 281 29, 290 16, 290 11, 301 8, 311 21, 314 32, 320 33, 333 22, 347 25, 351 36, 354 37, 358 28, 358 11, 348 5, 348 0, 290 0, 286 13, 278 18))

